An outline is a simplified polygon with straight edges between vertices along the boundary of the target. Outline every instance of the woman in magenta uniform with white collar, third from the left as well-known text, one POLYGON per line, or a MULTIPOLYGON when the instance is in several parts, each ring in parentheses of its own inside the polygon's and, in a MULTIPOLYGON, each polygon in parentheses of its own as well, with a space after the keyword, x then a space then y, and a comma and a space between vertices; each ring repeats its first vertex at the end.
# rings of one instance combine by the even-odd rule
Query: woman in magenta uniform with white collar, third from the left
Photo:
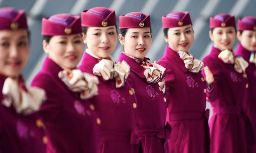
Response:
POLYGON ((91 102, 99 115, 99 153, 138 152, 133 133, 137 101, 134 90, 126 82, 130 67, 116 63, 110 54, 116 47, 116 14, 113 9, 96 7, 82 11, 83 41, 87 45, 83 72, 99 78, 99 95, 91 102))

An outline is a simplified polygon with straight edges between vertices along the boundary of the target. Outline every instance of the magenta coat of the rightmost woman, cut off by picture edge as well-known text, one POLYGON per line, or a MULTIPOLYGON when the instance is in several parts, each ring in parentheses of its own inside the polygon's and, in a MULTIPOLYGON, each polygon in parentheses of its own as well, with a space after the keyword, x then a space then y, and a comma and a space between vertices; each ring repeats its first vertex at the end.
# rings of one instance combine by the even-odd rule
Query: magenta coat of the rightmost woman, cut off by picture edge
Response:
MULTIPOLYGON (((251 53, 241 44, 236 49, 236 55, 242 56, 249 63, 249 66, 246 68, 246 75, 249 81, 246 108, 249 119, 252 122, 254 137, 256 138, 256 66, 249 61, 251 53)), ((256 146, 254 146, 253 150, 256 153, 256 146)))

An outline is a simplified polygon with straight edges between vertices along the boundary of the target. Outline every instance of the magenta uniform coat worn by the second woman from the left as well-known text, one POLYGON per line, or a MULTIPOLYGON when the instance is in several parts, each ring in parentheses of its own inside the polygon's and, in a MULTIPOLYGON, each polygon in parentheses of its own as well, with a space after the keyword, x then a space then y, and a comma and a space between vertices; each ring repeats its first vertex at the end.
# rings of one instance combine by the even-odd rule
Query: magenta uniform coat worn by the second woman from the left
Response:
POLYGON ((42 88, 47 100, 40 108, 48 138, 47 153, 96 153, 96 114, 58 77, 63 70, 46 57, 31 86, 42 88))

